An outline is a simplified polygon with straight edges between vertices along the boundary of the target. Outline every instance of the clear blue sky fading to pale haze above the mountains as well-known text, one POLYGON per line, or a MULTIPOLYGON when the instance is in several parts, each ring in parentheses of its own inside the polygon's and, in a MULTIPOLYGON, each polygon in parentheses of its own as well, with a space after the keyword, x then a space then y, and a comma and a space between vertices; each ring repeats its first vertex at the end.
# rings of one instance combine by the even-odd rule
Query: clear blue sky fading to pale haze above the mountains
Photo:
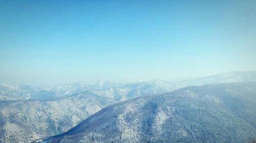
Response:
POLYGON ((256 70, 256 1, 0 1, 0 82, 256 70))

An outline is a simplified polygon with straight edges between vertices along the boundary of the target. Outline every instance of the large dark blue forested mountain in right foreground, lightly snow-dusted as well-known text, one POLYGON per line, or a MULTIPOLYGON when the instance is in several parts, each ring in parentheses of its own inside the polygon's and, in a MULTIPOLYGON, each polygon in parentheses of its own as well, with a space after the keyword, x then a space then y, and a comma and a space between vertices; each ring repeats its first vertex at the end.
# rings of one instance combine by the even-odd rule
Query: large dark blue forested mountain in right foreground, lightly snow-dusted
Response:
POLYGON ((241 142, 255 119, 255 82, 209 84, 109 105, 41 142, 241 142))

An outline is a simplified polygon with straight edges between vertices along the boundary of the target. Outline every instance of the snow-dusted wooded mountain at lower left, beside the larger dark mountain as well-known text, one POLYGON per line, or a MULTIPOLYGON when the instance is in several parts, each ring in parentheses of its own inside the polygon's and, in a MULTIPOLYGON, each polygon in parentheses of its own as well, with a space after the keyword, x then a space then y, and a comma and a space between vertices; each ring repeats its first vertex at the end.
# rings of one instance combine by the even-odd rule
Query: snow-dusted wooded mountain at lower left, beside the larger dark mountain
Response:
POLYGON ((90 92, 53 100, 0 101, 0 142, 31 142, 65 132, 111 103, 90 92))

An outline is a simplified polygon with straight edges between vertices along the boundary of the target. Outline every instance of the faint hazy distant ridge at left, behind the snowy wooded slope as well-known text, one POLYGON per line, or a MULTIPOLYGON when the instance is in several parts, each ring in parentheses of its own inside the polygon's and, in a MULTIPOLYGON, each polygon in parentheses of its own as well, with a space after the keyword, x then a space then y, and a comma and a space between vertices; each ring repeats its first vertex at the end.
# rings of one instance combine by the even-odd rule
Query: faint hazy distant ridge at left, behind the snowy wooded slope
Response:
POLYGON ((0 84, 0 101, 34 99, 49 100, 55 97, 78 94, 88 90, 105 90, 123 86, 124 84, 110 81, 99 81, 92 84, 75 82, 59 84, 47 88, 31 87, 30 85, 25 84, 17 87, 13 87, 8 84, 0 84))

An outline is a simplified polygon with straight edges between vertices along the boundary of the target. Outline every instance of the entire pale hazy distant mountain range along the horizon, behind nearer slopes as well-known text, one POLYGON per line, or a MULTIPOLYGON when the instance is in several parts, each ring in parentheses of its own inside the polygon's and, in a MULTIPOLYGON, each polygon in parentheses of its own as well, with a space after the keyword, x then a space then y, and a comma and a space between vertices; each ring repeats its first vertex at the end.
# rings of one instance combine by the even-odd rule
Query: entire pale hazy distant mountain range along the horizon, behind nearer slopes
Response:
POLYGON ((101 97, 115 101, 124 101, 138 96, 165 93, 191 85, 215 84, 224 82, 256 82, 256 71, 228 72, 214 76, 188 78, 178 81, 150 80, 121 84, 117 82, 98 81, 95 83, 68 83, 55 85, 50 88, 34 88, 29 85, 12 87, 0 85, 1 100, 47 100, 55 97, 67 96, 90 90, 101 97))

